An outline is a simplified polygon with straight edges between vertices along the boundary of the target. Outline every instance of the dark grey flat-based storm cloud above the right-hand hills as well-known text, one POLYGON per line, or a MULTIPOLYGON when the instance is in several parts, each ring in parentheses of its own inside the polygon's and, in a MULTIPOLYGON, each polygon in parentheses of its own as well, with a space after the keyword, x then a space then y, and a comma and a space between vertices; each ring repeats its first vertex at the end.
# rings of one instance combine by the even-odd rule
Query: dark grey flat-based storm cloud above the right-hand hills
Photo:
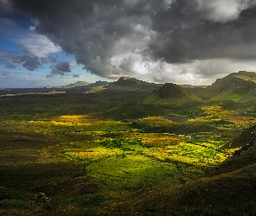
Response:
POLYGON ((198 3, 189 1, 176 1, 167 10, 158 11, 152 17, 152 28, 158 35, 150 41, 148 52, 169 63, 256 57, 255 5, 225 22, 207 15, 198 3))

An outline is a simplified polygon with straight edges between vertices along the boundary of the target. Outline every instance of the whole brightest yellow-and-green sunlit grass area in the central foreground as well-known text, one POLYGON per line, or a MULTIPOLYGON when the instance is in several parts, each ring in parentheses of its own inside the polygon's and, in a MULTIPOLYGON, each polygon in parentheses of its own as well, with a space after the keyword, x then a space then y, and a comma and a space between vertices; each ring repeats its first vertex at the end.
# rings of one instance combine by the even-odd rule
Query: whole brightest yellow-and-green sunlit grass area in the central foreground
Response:
POLYGON ((88 162, 89 176, 111 190, 180 184, 228 156, 220 149, 223 143, 213 141, 149 147, 144 139, 105 138, 97 144, 100 146, 68 151, 64 158, 88 162))

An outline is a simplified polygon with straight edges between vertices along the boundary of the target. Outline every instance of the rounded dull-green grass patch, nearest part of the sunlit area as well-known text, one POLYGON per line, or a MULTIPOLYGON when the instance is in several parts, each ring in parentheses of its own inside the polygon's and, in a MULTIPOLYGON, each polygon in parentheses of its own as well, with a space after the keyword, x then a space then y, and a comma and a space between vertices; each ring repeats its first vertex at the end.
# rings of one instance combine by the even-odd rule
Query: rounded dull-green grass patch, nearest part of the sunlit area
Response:
POLYGON ((89 164, 89 175, 112 189, 163 187, 181 183, 181 173, 173 164, 142 155, 108 157, 89 164))

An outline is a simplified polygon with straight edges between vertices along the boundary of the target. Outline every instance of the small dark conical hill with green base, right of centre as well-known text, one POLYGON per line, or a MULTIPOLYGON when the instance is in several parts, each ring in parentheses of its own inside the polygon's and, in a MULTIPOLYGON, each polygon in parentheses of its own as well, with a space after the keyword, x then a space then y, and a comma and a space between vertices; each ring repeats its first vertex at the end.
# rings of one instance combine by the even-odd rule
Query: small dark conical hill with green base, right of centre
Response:
POLYGON ((194 93, 173 83, 166 83, 143 98, 143 103, 148 105, 185 105, 200 101, 194 93))

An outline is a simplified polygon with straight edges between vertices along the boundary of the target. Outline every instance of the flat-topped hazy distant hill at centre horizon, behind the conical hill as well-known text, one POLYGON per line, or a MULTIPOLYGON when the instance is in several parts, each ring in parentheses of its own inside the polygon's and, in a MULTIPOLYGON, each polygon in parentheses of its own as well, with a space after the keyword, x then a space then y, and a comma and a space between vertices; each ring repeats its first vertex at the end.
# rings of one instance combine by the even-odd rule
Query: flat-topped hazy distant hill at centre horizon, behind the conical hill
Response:
POLYGON ((162 84, 148 83, 139 79, 122 76, 106 87, 108 90, 152 92, 154 89, 161 86, 162 84))

